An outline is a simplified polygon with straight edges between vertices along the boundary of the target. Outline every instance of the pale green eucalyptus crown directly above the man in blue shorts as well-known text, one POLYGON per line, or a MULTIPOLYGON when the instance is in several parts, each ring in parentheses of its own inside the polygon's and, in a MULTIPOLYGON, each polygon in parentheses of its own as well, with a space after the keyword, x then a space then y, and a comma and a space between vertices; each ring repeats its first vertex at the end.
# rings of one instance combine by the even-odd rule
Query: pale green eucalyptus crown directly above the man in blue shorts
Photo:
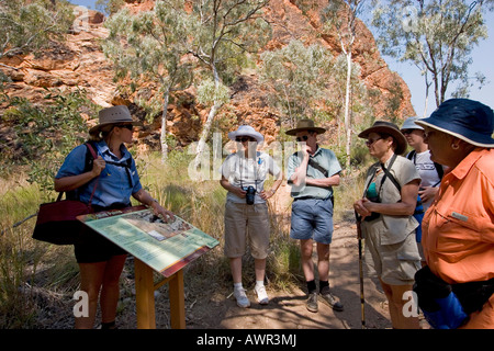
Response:
POLYGON ((287 46, 261 54, 259 82, 271 88, 269 100, 289 116, 293 127, 301 117, 314 118, 327 100, 334 75, 333 55, 321 44, 292 39, 287 46))

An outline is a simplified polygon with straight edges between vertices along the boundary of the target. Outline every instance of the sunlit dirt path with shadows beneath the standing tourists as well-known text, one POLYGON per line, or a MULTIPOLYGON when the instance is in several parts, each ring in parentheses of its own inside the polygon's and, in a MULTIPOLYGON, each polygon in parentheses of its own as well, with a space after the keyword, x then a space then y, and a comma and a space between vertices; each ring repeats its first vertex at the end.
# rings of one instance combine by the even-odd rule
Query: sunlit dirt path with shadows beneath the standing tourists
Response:
MULTIPOLYGON (((358 241, 355 225, 336 225, 330 253, 329 283, 333 293, 345 306, 334 312, 319 303, 318 313, 305 308, 306 294, 295 291, 272 291, 268 286, 270 303, 257 303, 251 288, 247 292, 250 308, 239 308, 233 296, 215 295, 188 317, 190 329, 360 329, 361 304, 358 264, 358 241)), ((372 329, 390 328, 388 303, 373 280, 364 279, 366 326, 372 329)), ((199 304, 199 302, 198 302, 199 304)))

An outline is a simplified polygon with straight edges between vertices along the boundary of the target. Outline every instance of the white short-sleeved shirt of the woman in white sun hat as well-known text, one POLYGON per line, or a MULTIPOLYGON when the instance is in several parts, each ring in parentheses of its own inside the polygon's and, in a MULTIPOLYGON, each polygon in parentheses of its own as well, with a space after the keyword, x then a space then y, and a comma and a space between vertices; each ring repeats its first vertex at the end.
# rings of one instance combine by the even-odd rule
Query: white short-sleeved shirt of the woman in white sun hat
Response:
MULTIPOLYGON (((235 152, 228 155, 222 165, 221 172, 228 182, 234 186, 256 189, 255 204, 265 203, 259 193, 265 189, 265 182, 268 174, 278 177, 280 168, 274 162, 274 159, 265 152, 257 152, 256 158, 246 158, 240 154, 235 152)), ((245 203, 245 199, 236 196, 228 192, 226 200, 235 203, 245 203)))

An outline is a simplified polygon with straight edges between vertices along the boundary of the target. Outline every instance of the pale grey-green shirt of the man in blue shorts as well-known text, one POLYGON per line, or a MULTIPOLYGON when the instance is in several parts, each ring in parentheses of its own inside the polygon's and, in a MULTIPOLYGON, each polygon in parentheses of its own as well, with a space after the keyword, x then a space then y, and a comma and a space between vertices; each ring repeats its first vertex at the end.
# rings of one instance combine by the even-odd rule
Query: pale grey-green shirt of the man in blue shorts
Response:
MULTIPOLYGON (((341 171, 341 166, 339 165, 339 161, 336 158, 335 152, 333 152, 329 149, 325 149, 317 146, 317 149, 314 152, 314 155, 310 155, 310 157, 312 160, 319 163, 322 168, 327 170, 328 178, 341 171)), ((288 170, 287 170, 288 179, 290 179, 292 174, 295 172, 295 169, 300 166, 302 159, 303 159, 302 151, 297 151, 290 156, 288 160, 288 170)), ((326 178, 321 170, 312 166, 307 166, 306 177, 314 179, 326 178)), ((306 184, 302 184, 300 186, 292 185, 291 195, 293 199, 299 197, 328 199, 333 195, 333 188, 312 186, 306 184)))

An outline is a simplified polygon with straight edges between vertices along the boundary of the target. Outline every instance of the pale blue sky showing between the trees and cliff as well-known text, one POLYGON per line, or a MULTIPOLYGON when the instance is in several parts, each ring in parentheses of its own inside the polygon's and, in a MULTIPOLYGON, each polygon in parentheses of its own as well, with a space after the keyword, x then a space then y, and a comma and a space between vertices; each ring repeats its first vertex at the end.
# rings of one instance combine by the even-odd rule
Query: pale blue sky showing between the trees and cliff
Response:
MULTIPOLYGON (((70 2, 79 5, 87 7, 89 9, 96 9, 96 0, 69 0, 70 2)), ((485 16, 489 37, 482 41, 472 52, 472 64, 469 68, 471 76, 480 71, 485 78, 486 82, 481 90, 473 87, 470 90, 470 99, 478 100, 492 109, 494 109, 494 64, 492 57, 494 54, 494 12, 489 12, 485 16)), ((372 31, 372 29, 371 29, 372 31)), ((406 82, 412 93, 412 105, 417 116, 424 116, 425 110, 425 82, 424 77, 420 76, 420 71, 417 67, 407 63, 398 63, 392 57, 383 57, 391 70, 396 71, 406 82)), ((453 87, 448 88, 450 94, 453 87)), ((450 98, 448 95, 447 98, 450 98)), ((434 93, 429 92, 428 109, 425 112, 425 116, 430 115, 436 109, 436 102, 434 93)))

